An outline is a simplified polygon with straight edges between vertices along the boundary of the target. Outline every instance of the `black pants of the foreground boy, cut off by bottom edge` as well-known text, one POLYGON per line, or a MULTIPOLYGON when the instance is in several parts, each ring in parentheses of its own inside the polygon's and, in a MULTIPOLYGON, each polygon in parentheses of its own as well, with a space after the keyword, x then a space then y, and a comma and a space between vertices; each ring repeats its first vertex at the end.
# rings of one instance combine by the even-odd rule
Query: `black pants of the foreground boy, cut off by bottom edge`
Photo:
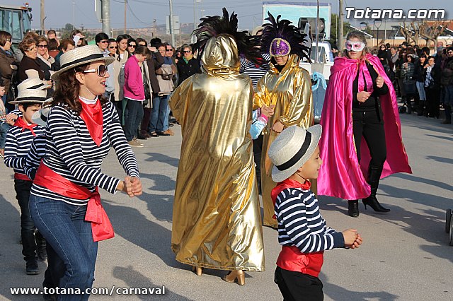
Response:
POLYGON ((318 277, 287 271, 277 266, 274 282, 277 283, 284 301, 324 300, 323 283, 318 277))

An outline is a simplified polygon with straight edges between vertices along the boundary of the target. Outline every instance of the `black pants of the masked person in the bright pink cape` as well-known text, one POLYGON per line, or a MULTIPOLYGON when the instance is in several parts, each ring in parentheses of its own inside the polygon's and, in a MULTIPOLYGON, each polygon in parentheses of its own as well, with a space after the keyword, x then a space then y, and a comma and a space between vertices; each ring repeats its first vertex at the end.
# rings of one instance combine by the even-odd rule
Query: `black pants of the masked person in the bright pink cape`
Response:
POLYGON ((382 167, 387 157, 387 148, 381 108, 379 107, 379 115, 375 110, 363 112, 352 110, 352 129, 359 162, 360 143, 363 136, 371 154, 370 164, 374 167, 382 167))

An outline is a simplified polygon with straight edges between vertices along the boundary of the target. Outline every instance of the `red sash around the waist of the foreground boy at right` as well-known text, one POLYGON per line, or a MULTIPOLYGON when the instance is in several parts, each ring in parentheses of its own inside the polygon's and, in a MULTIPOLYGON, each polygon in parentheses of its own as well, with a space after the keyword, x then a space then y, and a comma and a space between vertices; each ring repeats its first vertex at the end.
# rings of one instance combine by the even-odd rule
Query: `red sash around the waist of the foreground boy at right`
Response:
POLYGON ((318 277, 324 262, 324 252, 302 253, 295 246, 283 246, 277 266, 287 271, 301 272, 318 277))

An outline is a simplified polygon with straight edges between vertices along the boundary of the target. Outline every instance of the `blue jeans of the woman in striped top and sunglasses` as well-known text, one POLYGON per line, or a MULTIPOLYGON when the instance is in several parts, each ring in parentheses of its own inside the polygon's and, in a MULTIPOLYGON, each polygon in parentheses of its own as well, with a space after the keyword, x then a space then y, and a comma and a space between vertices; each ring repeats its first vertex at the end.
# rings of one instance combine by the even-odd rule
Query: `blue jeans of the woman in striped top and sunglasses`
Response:
MULTIPOLYGON (((58 266, 64 262, 64 276, 59 288, 91 288, 98 254, 98 243, 93 242, 91 223, 85 218, 86 206, 75 206, 64 201, 55 201, 41 196, 30 195, 30 214, 36 228, 58 255, 49 263, 58 266)), ((55 269, 50 266, 49 269, 55 269)), ((88 300, 89 295, 59 295, 58 300, 88 300)))

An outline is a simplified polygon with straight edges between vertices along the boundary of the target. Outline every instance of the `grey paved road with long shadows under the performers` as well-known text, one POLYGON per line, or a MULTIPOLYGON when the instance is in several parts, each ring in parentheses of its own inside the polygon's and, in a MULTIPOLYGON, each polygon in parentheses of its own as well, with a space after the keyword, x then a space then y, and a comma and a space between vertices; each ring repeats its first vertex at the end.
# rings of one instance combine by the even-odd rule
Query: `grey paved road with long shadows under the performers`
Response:
MULTIPOLYGON (((448 246, 445 209, 453 208, 453 126, 404 114, 403 138, 413 175, 382 181, 379 200, 391 212, 345 215, 345 201, 321 197, 328 225, 357 228, 364 244, 357 250, 326 252, 321 273, 326 300, 453 300, 453 247, 448 246)), ((166 295, 92 296, 91 300, 282 300, 273 283, 280 250, 275 230, 264 228, 267 271, 247 273, 246 285, 224 283, 223 271, 195 276, 175 261, 170 249, 173 192, 178 167, 176 136, 151 138, 134 149, 144 194, 129 199, 103 192, 103 203, 116 236, 99 244, 96 288, 159 288, 166 295)), ((114 155, 103 164, 108 175, 122 177, 114 155)), ((0 165, 0 300, 42 300, 12 296, 9 288, 38 288, 40 276, 26 276, 19 238, 19 211, 12 172, 0 165)), ((45 271, 45 264, 40 264, 45 271)))

